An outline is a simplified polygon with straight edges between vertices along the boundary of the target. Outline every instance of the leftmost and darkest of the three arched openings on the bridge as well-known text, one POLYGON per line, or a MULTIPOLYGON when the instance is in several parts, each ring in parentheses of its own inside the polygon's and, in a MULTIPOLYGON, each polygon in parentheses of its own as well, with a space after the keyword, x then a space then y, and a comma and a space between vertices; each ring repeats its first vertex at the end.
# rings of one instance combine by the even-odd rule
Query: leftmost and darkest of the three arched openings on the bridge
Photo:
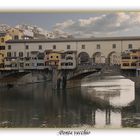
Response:
POLYGON ((87 52, 80 52, 78 54, 78 64, 89 64, 90 63, 90 57, 87 52))

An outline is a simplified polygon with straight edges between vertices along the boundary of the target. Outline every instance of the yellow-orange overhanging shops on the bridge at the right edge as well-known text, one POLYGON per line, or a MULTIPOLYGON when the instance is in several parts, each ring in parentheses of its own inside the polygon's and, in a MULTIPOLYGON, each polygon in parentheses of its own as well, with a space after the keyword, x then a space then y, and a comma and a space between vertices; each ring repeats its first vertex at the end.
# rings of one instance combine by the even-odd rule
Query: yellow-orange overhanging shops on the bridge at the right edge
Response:
POLYGON ((140 49, 122 53, 121 69, 140 69, 140 49))

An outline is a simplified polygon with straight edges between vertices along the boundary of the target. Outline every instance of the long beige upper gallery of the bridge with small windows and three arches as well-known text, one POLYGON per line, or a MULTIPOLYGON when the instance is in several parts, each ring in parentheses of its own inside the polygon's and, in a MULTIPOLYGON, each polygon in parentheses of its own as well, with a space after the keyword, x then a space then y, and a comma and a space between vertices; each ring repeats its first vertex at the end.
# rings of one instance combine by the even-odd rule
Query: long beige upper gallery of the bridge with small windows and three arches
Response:
POLYGON ((9 40, 6 44, 7 57, 11 58, 18 57, 19 54, 22 54, 23 58, 27 55, 31 57, 31 52, 44 53, 46 50, 52 50, 52 56, 49 55, 49 58, 46 54, 44 56, 45 65, 48 60, 58 65, 60 56, 57 53, 67 51, 77 52, 78 65, 100 63, 120 65, 122 52, 140 48, 140 37, 9 40))

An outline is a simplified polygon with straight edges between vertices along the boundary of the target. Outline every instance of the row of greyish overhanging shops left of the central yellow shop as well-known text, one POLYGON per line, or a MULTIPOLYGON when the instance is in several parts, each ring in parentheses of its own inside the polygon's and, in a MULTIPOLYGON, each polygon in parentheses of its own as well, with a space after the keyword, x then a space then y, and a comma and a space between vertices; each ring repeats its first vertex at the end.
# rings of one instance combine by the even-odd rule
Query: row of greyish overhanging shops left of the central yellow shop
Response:
POLYGON ((38 51, 30 52, 30 57, 21 52, 18 57, 5 58, 5 70, 43 70, 44 65, 44 53, 38 51))

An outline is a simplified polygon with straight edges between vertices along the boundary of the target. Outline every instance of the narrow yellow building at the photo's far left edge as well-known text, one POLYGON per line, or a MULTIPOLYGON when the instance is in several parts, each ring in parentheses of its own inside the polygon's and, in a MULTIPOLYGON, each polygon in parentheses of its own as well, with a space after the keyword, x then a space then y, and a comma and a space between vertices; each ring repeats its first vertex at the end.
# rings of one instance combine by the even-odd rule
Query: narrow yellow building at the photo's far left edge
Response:
POLYGON ((4 69, 5 42, 12 39, 7 33, 0 33, 0 70, 4 69))

